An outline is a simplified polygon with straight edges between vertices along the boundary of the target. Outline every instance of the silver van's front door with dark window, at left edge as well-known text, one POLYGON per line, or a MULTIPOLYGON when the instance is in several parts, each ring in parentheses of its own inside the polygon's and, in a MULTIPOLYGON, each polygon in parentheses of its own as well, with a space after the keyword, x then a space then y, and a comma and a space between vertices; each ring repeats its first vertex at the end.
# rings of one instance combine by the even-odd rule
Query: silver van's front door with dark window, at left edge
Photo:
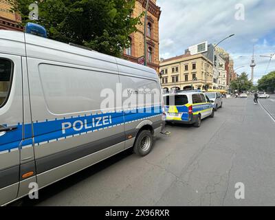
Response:
POLYGON ((0 205, 17 198, 22 124, 21 56, 0 53, 0 205))

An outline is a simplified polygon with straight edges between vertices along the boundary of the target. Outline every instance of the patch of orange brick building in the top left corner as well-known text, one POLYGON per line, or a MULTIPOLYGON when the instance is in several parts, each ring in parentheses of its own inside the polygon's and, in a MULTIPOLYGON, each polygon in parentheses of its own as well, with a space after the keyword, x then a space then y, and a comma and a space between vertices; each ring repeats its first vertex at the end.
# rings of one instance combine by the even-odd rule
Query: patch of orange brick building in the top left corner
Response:
POLYGON ((0 30, 23 31, 21 17, 17 13, 10 12, 11 5, 6 0, 0 0, 0 30))

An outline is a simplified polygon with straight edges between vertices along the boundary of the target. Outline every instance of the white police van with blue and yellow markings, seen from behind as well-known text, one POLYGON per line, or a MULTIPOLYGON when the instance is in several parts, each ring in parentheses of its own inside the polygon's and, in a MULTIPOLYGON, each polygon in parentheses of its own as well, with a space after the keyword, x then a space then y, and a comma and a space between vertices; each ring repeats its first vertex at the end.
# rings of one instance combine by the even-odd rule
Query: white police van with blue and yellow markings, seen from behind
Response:
POLYGON ((166 122, 201 126, 203 118, 214 117, 213 101, 200 91, 175 91, 164 95, 166 122))

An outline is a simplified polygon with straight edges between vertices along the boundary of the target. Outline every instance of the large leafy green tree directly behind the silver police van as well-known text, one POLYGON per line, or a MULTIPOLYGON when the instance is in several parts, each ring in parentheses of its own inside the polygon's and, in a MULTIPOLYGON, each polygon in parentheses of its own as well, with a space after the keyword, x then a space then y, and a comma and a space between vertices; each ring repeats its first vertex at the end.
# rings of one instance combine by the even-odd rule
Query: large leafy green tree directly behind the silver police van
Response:
POLYGON ((39 20, 29 20, 29 5, 34 0, 8 0, 12 10, 19 12, 22 23, 43 25, 50 39, 84 45, 112 56, 120 57, 129 47, 129 35, 137 31, 140 17, 133 18, 135 0, 43 0, 39 20))

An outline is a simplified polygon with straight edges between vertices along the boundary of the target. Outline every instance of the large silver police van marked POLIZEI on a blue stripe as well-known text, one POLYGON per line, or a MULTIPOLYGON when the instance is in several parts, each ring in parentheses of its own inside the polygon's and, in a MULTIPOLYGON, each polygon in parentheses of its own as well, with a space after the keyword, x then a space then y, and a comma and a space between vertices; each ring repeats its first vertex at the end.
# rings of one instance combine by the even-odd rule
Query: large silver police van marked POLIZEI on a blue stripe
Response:
POLYGON ((161 127, 155 70, 0 31, 0 205, 127 148, 144 156, 161 127))

